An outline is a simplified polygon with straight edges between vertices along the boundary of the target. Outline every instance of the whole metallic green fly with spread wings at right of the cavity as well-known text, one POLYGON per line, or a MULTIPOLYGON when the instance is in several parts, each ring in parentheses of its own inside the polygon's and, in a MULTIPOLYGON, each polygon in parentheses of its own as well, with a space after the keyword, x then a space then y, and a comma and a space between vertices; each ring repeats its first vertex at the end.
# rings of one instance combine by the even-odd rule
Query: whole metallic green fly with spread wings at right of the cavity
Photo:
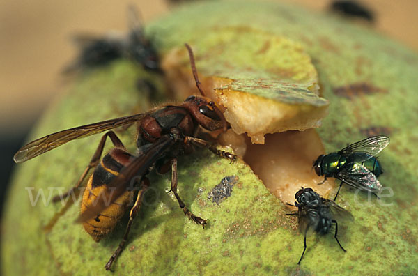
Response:
POLYGON ((318 156, 314 162, 316 174, 325 175, 325 180, 327 177, 334 177, 341 181, 334 200, 343 183, 377 196, 376 193, 382 187, 378 176, 383 171, 376 155, 386 148, 389 141, 389 137, 385 135, 373 136, 350 144, 341 151, 318 156))

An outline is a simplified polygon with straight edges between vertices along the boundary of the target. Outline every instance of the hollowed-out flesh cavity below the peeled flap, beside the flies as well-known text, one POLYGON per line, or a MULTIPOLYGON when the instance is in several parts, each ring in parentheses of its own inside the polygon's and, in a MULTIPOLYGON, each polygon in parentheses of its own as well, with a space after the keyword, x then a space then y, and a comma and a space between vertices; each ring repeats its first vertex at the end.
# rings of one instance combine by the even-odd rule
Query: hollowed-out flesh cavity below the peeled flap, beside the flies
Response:
POLYGON ((325 153, 316 130, 286 131, 266 135, 265 144, 249 144, 244 160, 258 175, 264 185, 281 201, 295 201, 300 187, 312 187, 323 197, 328 197, 335 187, 333 178, 322 185, 312 162, 325 153))

